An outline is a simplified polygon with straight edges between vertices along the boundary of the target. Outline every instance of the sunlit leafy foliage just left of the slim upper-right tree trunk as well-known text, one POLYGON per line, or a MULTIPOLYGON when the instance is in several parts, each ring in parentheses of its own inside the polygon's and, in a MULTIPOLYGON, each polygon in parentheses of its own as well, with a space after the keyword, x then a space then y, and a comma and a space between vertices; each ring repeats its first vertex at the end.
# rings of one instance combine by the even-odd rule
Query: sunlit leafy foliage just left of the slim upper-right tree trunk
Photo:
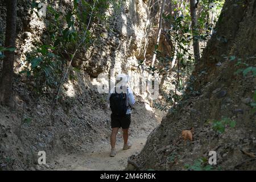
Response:
MULTIPOLYGON (((178 2, 176 2, 178 3, 178 2)), ((181 10, 175 10, 181 11, 181 10)), ((183 10, 182 10, 183 11, 183 10)), ((189 11, 184 10, 185 14, 178 16, 177 13, 174 15, 163 16, 164 21, 171 24, 170 29, 165 30, 167 38, 173 44, 172 52, 168 56, 163 56, 163 53, 155 47, 156 57, 158 61, 158 73, 159 75, 168 75, 175 73, 175 80, 171 81, 171 84, 175 85, 175 90, 168 90, 168 94, 162 93, 167 104, 157 105, 160 110, 170 111, 172 106, 175 106, 183 96, 180 93, 184 93, 187 83, 184 81, 185 78, 189 77, 192 73, 195 60, 192 58, 193 53, 191 49, 192 43, 192 31, 190 26, 191 19, 189 18, 189 11), (170 56, 171 55, 171 56, 170 56), (175 69, 171 69, 170 65, 172 62, 176 62, 175 69)), ((173 110, 174 111, 174 110, 173 110)))

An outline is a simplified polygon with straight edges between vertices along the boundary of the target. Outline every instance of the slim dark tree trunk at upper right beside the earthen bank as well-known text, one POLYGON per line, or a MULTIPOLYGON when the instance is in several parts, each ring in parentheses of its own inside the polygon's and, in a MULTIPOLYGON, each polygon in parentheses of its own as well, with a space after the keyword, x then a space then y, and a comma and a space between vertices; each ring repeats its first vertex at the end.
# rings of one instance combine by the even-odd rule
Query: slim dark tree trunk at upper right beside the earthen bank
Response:
POLYGON ((193 50, 196 62, 200 61, 200 46, 197 34, 197 20, 196 20, 196 0, 190 0, 190 14, 191 14, 191 27, 193 35, 193 50))

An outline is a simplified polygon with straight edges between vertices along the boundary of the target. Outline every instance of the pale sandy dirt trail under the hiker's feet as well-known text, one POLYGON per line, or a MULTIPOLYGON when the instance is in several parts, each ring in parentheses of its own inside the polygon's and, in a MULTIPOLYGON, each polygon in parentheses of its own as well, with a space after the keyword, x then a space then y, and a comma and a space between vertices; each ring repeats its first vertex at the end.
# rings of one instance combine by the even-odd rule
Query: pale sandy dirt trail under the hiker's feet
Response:
POLYGON ((110 143, 109 139, 102 139, 96 143, 92 143, 90 146, 83 146, 86 148, 85 152, 79 152, 74 154, 62 154, 51 163, 53 170, 75 170, 75 171, 87 171, 87 170, 123 170, 127 166, 127 159, 131 155, 137 155, 144 144, 150 132, 159 125, 162 120, 162 113, 156 111, 154 115, 134 114, 134 120, 142 119, 141 123, 133 123, 131 125, 131 132, 129 136, 129 142, 133 146, 129 150, 122 150, 123 140, 122 131, 119 130, 117 135, 117 155, 114 158, 109 156, 110 143))

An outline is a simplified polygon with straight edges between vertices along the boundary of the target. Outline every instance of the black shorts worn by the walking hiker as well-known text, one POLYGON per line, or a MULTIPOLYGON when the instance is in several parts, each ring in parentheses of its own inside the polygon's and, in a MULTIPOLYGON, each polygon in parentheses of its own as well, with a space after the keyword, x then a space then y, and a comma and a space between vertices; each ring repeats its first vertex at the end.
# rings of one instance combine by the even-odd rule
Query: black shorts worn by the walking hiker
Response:
POLYGON ((122 127, 122 129, 128 129, 131 123, 131 114, 126 114, 124 116, 117 116, 111 114, 111 127, 122 127))

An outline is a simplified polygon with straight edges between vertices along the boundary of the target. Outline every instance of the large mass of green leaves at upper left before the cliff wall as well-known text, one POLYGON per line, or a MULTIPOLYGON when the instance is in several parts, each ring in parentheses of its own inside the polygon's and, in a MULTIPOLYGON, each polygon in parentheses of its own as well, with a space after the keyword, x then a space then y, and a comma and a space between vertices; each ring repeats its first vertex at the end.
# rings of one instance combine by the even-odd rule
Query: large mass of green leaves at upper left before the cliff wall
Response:
MULTIPOLYGON (((38 1, 32 1, 31 13, 38 12, 38 1)), ((75 56, 77 49, 86 49, 92 43, 89 22, 103 22, 105 11, 110 2, 105 0, 73 1, 72 9, 65 14, 59 9, 47 5, 47 30, 43 43, 27 52, 27 65, 20 73, 26 73, 28 80, 34 84, 36 94, 55 92, 61 85, 61 77, 69 60, 75 56)), ((38 15, 38 14, 37 14, 38 15)), ((69 79, 76 79, 78 68, 69 69, 69 79)))

